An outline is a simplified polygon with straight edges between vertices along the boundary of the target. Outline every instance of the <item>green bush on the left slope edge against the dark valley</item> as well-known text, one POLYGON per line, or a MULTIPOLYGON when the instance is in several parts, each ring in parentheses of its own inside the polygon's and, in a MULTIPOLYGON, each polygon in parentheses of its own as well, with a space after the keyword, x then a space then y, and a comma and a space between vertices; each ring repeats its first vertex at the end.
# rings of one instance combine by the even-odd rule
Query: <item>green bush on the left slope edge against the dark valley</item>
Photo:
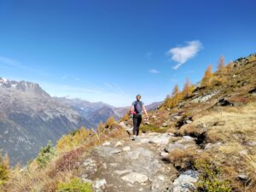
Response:
POLYGON ((47 145, 44 148, 41 148, 41 150, 39 151, 38 157, 37 157, 37 163, 38 166, 45 167, 50 160, 52 160, 55 156, 55 147, 53 146, 53 144, 51 143, 51 141, 49 141, 47 143, 47 145))

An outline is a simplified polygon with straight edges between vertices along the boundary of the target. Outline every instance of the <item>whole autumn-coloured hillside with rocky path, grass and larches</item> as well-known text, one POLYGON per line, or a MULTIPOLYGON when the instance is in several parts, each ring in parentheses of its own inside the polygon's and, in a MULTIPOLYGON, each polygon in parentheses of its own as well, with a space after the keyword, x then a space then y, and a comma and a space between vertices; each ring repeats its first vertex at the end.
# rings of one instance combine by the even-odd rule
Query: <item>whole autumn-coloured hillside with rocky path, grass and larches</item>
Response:
POLYGON ((256 55, 211 70, 150 111, 135 142, 131 119, 108 119, 10 170, 2 190, 255 192, 256 55))

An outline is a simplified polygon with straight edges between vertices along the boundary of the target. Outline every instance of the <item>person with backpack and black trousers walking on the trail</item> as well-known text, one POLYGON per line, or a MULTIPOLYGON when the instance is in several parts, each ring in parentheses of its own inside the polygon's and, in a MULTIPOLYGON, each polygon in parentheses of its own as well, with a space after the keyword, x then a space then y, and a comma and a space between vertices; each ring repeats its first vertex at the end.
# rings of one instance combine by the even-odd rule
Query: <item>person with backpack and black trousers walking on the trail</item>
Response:
POLYGON ((147 110, 144 106, 144 103, 141 101, 142 96, 137 95, 136 96, 136 101, 132 102, 131 104, 131 109, 130 109, 130 113, 133 116, 133 136, 132 136, 132 140, 135 140, 136 137, 139 134, 140 131, 140 125, 143 119, 143 111, 147 116, 148 119, 148 113, 147 110))

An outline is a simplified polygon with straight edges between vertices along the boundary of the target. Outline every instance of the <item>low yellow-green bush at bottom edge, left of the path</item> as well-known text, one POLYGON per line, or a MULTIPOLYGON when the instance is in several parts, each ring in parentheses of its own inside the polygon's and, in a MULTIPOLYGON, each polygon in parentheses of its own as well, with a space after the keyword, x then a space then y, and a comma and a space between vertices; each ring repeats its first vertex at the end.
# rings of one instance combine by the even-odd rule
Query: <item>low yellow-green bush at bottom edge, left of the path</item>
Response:
POLYGON ((68 183, 60 183, 56 192, 92 192, 90 183, 82 183, 79 178, 73 178, 68 183))

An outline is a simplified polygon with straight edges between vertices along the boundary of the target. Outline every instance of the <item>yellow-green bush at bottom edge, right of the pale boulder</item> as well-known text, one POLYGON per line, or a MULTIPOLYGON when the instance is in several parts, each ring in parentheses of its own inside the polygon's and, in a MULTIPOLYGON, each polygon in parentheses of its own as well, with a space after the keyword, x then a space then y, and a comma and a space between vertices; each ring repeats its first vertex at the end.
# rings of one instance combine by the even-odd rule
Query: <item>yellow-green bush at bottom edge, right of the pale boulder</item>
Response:
POLYGON ((220 178, 221 170, 206 160, 195 160, 195 168, 201 173, 197 182, 198 191, 230 192, 230 184, 220 178))

